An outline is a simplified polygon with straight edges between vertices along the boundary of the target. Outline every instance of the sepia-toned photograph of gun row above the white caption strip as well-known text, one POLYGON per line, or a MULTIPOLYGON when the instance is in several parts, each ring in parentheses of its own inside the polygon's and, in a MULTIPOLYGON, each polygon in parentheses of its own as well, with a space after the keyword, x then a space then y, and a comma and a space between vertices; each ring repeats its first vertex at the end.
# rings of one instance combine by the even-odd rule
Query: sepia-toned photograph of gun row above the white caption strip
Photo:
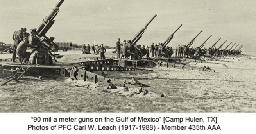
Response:
POLYGON ((254 0, 0 0, 0 112, 256 112, 254 0))

